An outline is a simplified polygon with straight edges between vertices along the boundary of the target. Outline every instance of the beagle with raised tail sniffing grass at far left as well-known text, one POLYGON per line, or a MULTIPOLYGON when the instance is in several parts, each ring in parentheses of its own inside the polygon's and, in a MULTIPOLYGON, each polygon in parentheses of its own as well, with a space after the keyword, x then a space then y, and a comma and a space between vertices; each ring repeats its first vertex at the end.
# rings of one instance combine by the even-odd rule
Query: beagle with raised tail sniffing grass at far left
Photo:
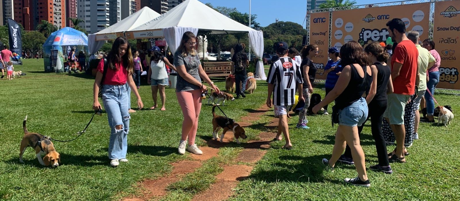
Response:
POLYGON ((38 133, 29 133, 26 127, 27 115, 23 121, 24 137, 21 140, 21 147, 19 152, 19 162, 23 162, 23 154, 27 147, 32 147, 35 149, 35 154, 37 155, 38 162, 41 165, 49 166, 56 168, 61 163, 61 156, 54 149, 52 141, 47 137, 38 133), (43 160, 41 155, 45 154, 43 160))

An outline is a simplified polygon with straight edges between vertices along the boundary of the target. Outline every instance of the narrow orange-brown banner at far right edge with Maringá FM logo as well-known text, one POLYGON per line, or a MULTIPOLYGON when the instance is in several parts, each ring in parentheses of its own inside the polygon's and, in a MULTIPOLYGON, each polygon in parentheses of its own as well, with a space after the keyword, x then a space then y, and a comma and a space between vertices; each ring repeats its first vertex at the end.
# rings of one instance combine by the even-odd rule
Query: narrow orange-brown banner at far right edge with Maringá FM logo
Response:
POLYGON ((439 84, 436 88, 460 89, 460 1, 437 1, 434 12, 433 41, 441 56, 439 84), (457 61, 457 56, 459 61, 457 61))

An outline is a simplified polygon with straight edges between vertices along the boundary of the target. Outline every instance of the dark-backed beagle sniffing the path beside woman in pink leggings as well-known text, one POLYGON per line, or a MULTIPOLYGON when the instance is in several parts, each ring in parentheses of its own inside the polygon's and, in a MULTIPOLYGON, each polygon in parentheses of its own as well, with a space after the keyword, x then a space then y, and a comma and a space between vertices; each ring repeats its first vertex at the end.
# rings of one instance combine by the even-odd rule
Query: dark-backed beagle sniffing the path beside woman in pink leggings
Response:
POLYGON ((224 139, 224 134, 228 130, 233 131, 233 134, 235 135, 236 138, 236 143, 240 144, 240 140, 238 140, 240 137, 242 139, 246 139, 246 132, 244 131, 244 128, 240 126, 240 124, 236 123, 233 121, 233 119, 223 117, 216 115, 216 112, 214 112, 214 109, 216 106, 213 106, 213 138, 214 140, 217 140, 217 133, 219 132, 220 128, 224 128, 224 132, 220 136, 220 142, 224 139))

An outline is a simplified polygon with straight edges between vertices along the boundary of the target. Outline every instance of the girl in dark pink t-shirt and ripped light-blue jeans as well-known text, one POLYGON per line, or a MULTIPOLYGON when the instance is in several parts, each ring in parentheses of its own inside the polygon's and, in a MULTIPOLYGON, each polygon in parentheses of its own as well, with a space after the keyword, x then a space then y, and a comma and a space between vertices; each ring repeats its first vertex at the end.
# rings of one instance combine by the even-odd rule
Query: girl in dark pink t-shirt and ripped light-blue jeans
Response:
POLYGON ((134 65, 131 47, 125 37, 115 39, 112 50, 107 55, 106 60, 105 67, 104 59, 101 59, 98 65, 98 73, 93 87, 94 103, 92 108, 94 110, 102 109, 98 100, 99 89, 102 87, 101 99, 104 102, 104 109, 107 112, 110 126, 110 165, 117 167, 119 162, 128 161, 126 159, 127 134, 131 118, 128 112, 130 103, 128 85, 138 98, 138 108, 141 109, 144 104, 132 79, 134 65))

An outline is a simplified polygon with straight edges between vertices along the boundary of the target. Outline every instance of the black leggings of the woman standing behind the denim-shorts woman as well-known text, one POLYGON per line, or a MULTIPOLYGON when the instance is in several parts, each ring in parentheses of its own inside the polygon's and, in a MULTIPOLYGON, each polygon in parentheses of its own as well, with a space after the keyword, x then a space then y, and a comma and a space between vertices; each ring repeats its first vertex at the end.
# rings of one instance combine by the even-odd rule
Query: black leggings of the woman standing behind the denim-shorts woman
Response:
MULTIPOLYGON (((375 140, 375 148, 377 149, 377 157, 379 158, 379 165, 388 166, 388 156, 386 151, 386 141, 382 133, 382 122, 383 122, 383 113, 386 110, 386 100, 385 101, 371 101, 368 105, 369 107, 369 117, 371 118, 371 130, 372 137, 375 140)), ((368 121, 366 119, 366 122, 368 121)), ((364 122, 361 126, 358 126, 358 134, 361 135, 362 128, 364 127, 364 122)), ((352 158, 351 149, 346 145, 344 156, 352 158)))

